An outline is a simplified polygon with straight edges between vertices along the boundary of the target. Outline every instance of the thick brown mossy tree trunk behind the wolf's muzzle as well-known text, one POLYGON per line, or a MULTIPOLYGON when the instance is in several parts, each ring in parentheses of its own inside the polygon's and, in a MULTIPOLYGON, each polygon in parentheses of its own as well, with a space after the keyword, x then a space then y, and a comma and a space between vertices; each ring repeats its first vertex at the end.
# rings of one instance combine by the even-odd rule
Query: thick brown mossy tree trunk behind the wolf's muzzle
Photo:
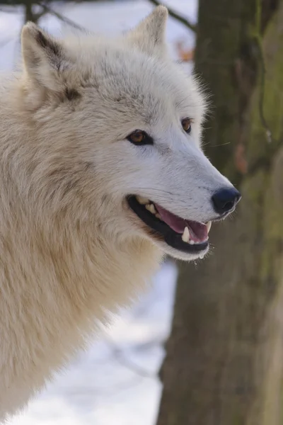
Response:
POLYGON ((283 0, 275 14, 276 1, 261 3, 200 0, 196 66, 215 106, 207 154, 243 199, 212 226, 213 255, 180 268, 158 425, 282 421, 283 0))

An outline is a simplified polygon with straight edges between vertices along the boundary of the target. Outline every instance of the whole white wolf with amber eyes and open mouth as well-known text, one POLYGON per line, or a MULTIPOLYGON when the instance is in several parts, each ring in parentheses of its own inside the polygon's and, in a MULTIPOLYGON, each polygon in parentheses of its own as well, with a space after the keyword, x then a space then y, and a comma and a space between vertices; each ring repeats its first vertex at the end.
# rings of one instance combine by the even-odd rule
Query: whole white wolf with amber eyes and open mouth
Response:
POLYGON ((0 421, 240 198, 200 148, 204 96, 160 6, 115 40, 22 33, 0 89, 0 421))

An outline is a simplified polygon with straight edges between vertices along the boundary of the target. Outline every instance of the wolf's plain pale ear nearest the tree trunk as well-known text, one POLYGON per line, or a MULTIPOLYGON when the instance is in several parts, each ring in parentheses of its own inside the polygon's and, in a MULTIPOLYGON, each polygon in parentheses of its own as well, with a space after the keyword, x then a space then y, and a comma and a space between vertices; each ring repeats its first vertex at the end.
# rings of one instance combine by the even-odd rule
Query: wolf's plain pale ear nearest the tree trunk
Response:
POLYGON ((166 55, 166 22, 168 10, 157 6, 139 25, 127 34, 129 41, 149 55, 166 55))

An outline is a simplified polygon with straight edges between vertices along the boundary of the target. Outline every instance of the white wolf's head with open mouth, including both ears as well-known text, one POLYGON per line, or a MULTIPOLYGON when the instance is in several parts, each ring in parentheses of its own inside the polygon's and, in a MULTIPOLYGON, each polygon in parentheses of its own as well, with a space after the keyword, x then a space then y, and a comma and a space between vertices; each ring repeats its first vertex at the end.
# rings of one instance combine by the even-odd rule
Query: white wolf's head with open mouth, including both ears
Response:
POLYGON ((204 96, 168 57, 167 14, 159 6, 115 40, 55 40, 28 23, 24 103, 46 211, 89 217, 113 244, 146 238, 189 260, 240 194, 202 152, 204 96))

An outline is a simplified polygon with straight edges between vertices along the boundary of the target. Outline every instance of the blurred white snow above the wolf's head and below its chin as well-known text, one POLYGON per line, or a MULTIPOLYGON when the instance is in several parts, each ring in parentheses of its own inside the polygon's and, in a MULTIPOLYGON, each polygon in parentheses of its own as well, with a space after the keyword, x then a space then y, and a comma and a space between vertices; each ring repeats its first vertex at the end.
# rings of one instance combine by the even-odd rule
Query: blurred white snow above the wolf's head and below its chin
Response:
MULTIPOLYGON (((197 1, 166 4, 195 22, 197 1)), ((134 26, 152 9, 147 1, 61 3, 54 7, 81 26, 110 35, 134 26)), ((22 20, 20 8, 18 13, 0 12, 0 70, 11 69, 18 59, 22 20)), ((45 18, 41 25, 54 35, 62 33, 56 18, 45 18)), ((168 42, 175 59, 178 41, 191 48, 195 40, 187 28, 170 18, 168 42)), ((154 425, 161 395, 156 373, 164 356, 162 343, 171 327, 176 277, 173 263, 164 264, 151 292, 132 310, 122 312, 105 338, 94 341, 10 424, 154 425)))

